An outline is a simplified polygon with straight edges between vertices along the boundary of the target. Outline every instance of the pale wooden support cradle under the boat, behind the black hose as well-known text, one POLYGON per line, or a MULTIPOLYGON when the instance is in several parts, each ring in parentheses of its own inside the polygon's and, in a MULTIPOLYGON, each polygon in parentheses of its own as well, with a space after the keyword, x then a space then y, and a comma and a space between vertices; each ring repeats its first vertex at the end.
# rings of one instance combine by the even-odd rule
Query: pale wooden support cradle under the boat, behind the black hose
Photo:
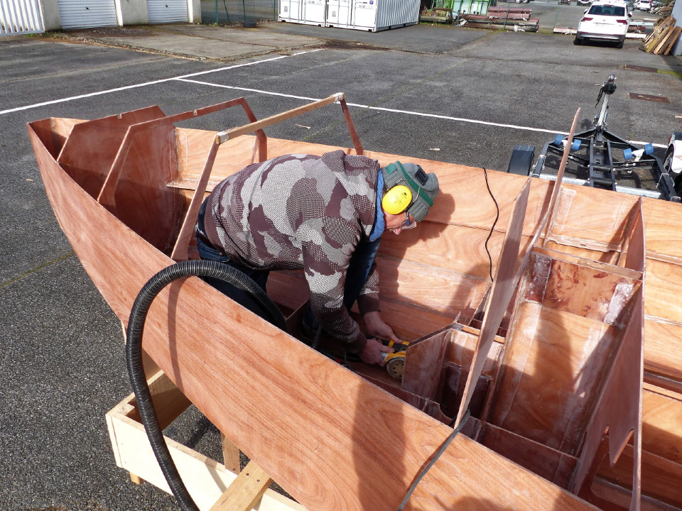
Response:
MULTIPOLYGON (((148 379, 148 384, 159 423, 165 428, 187 409, 190 401, 161 370, 148 379)), ((146 480, 171 493, 141 424, 134 394, 109 410, 107 427, 117 466, 129 471, 134 483, 146 480)), ((223 437, 224 463, 219 463, 164 438, 183 483, 200 510, 250 511, 257 506, 259 511, 305 511, 298 502, 269 490, 271 478, 255 463, 249 462, 240 471, 239 449, 229 439, 223 437)))

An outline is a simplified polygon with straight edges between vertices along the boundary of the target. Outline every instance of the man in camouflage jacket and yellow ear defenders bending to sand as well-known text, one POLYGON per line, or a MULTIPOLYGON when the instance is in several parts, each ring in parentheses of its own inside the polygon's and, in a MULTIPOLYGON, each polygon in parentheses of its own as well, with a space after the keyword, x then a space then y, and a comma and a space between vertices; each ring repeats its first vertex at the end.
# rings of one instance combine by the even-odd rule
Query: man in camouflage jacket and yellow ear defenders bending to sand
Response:
MULTIPOLYGON (((400 339, 379 314, 374 257, 381 234, 412 229, 438 195, 438 178, 413 163, 381 168, 377 160, 335 150, 323 156, 285 155, 254 163, 217 185, 205 199, 195 230, 202 259, 232 265, 263 290, 271 270, 300 270, 310 290, 303 333, 325 338, 383 365, 393 351, 374 339, 400 339), (350 316, 357 301, 367 326, 350 316)), ((243 291, 207 282, 256 314, 243 291)))

